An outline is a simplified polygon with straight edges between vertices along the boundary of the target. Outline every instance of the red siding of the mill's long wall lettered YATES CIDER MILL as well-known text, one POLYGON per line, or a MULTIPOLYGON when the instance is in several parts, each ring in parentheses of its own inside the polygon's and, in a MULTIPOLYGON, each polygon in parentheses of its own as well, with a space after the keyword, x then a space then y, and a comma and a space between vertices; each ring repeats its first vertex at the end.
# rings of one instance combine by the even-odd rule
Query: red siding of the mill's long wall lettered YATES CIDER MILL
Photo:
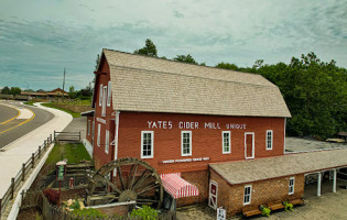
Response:
MULTIPOLYGON (((254 132, 254 157, 283 154, 283 118, 219 117, 173 113, 121 112, 119 157, 141 157, 141 131, 154 131, 154 158, 145 158, 159 173, 207 169, 208 163, 245 160, 245 132, 254 132), (172 129, 149 129, 148 121, 172 121, 172 129), (198 129, 180 129, 180 122, 197 122, 198 129), (205 129, 205 122, 220 129, 205 129), (246 124, 246 129, 226 129, 227 123, 246 124), (192 156, 181 156, 181 131, 192 131, 192 156), (273 130, 273 150, 265 150, 267 130, 273 130), (231 153, 223 154, 221 132, 231 131, 231 153), (206 162, 162 164, 165 160, 209 157, 206 162)), ((194 123, 195 125, 195 123, 194 123)))

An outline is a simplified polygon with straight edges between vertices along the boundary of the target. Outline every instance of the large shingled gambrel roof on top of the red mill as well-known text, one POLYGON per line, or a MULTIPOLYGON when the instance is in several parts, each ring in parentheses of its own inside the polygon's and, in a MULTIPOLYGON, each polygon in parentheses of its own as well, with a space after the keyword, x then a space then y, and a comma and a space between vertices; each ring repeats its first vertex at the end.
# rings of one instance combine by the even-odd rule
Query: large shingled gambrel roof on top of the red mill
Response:
POLYGON ((102 52, 115 110, 291 117, 279 88, 260 75, 102 52))

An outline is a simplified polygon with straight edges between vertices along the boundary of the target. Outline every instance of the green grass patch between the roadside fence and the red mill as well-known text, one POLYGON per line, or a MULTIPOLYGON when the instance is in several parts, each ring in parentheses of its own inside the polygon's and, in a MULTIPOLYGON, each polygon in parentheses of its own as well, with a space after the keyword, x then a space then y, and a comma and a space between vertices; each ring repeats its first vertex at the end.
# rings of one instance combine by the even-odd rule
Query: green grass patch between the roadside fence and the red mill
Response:
POLYGON ((45 164, 57 163, 67 158, 67 164, 77 164, 80 161, 91 161, 87 150, 82 143, 77 144, 61 144, 54 145, 52 152, 50 153, 45 164))

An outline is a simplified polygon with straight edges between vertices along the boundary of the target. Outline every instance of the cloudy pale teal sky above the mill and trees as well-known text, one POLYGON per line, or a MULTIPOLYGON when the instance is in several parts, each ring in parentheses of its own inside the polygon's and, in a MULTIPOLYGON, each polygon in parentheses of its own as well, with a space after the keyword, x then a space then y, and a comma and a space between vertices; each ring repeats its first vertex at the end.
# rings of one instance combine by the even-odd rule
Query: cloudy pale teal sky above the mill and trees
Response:
POLYGON ((159 56, 250 67, 314 52, 347 67, 347 0, 0 0, 0 87, 85 88, 97 54, 156 45, 159 56))

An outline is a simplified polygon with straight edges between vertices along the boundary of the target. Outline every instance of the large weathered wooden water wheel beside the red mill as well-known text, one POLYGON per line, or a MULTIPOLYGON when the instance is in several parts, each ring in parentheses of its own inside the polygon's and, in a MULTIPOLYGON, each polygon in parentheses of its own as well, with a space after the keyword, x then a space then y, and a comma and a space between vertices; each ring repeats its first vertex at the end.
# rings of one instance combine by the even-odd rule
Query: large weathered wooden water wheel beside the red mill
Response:
POLYGON ((127 157, 99 168, 89 179, 87 194, 87 206, 135 201, 137 206, 159 209, 163 201, 163 185, 147 162, 127 157))

